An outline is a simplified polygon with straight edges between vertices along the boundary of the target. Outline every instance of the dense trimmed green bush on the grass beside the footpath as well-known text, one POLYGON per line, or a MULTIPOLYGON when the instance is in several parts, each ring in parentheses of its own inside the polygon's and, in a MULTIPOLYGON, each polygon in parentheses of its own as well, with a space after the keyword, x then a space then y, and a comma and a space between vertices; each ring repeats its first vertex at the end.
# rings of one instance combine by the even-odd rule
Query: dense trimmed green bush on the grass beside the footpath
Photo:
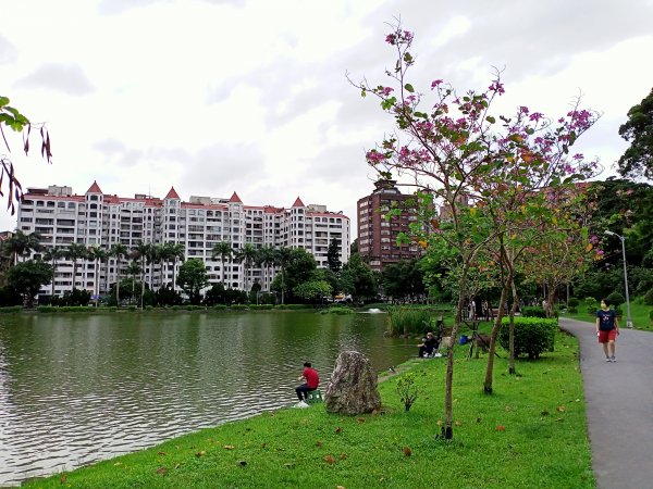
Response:
MULTIPOLYGON (((515 358, 527 354, 529 359, 539 359, 544 351, 553 351, 557 319, 542 317, 515 317, 515 358)), ((509 348, 509 318, 504 317, 498 343, 509 348)))

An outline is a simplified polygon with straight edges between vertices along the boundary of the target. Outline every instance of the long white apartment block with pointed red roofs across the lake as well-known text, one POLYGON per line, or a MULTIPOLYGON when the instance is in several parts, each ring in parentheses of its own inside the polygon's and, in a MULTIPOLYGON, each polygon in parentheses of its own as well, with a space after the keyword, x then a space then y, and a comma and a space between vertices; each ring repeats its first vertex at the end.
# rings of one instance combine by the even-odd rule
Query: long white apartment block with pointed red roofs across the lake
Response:
MULTIPOLYGON (((349 218, 342 213, 329 212, 324 205, 305 205, 297 198, 289 208, 273 205, 246 205, 236 192, 230 199, 192 196, 182 201, 172 187, 163 198, 139 193, 134 198, 103 193, 97 181, 84 195, 74 195, 71 187, 50 186, 28 188, 19 205, 17 229, 37 231, 46 248, 66 248, 71 243, 85 247, 98 246, 109 249, 122 243, 128 250, 144 243, 167 242, 184 246, 185 259, 205 262, 211 284, 222 280, 225 287, 250 288, 257 281, 262 290, 269 290, 275 271, 254 265, 225 261, 224 271, 220 258, 212 258, 212 248, 227 241, 234 249, 251 243, 255 248, 304 248, 311 253, 318 266, 328 264, 329 243, 336 239, 341 244, 341 261, 349 259, 349 218)), ((127 274, 127 260, 121 260, 121 276, 127 274)), ((172 280, 171 263, 145 263, 146 283, 155 290, 172 280)), ((174 273, 178 272, 177 263, 174 273)), ((58 263, 54 293, 62 294, 76 288, 91 293, 106 293, 118 277, 114 258, 99 264, 78 261, 76 277, 73 263, 58 263)), ((41 294, 51 293, 51 285, 41 294)))

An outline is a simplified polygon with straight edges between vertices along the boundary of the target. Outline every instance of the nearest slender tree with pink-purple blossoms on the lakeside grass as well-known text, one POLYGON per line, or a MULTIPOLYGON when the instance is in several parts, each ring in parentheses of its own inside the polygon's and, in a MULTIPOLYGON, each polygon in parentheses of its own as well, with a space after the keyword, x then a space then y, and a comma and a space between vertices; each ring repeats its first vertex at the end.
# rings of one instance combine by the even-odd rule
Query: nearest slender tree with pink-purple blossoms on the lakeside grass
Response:
POLYGON ((514 227, 512 218, 519 212, 542 212, 537 203, 520 201, 523 196, 582 178, 591 171, 592 164, 586 164, 582 155, 571 156, 569 147, 591 127, 596 114, 577 103, 557 122, 525 106, 512 117, 496 117, 490 108, 505 91, 498 72, 482 92, 458 95, 442 79, 434 79, 427 93, 420 92, 408 79, 415 64, 412 40, 412 34, 401 25, 393 26, 385 38, 397 55, 394 68, 385 72, 392 86, 367 80, 353 85, 362 97, 380 100, 382 110, 394 120, 394 134, 366 158, 382 178, 393 179, 396 174, 415 190, 418 220, 410 227, 414 239, 427 252, 443 241, 457 255, 459 297, 447 355, 442 427, 443 437, 451 439, 453 344, 475 258, 514 227))

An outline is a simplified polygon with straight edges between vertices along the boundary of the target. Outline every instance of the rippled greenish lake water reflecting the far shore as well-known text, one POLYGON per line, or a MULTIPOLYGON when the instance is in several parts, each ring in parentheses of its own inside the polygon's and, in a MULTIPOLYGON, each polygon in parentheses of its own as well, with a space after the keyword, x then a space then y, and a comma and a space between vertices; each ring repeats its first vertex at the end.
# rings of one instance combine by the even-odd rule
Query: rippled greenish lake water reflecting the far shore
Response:
POLYGON ((0 317, 0 486, 296 402, 343 350, 381 372, 415 355, 385 314, 115 313, 0 317))

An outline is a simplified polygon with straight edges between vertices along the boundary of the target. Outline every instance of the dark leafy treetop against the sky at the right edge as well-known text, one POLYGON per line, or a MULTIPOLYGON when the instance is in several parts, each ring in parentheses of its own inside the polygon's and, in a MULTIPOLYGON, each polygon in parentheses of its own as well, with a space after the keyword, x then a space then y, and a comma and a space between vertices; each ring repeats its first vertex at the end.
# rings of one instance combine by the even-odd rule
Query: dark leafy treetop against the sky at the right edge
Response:
POLYGON ((653 89, 628 111, 628 121, 619 127, 619 136, 630 147, 619 158, 621 176, 653 178, 653 89))

